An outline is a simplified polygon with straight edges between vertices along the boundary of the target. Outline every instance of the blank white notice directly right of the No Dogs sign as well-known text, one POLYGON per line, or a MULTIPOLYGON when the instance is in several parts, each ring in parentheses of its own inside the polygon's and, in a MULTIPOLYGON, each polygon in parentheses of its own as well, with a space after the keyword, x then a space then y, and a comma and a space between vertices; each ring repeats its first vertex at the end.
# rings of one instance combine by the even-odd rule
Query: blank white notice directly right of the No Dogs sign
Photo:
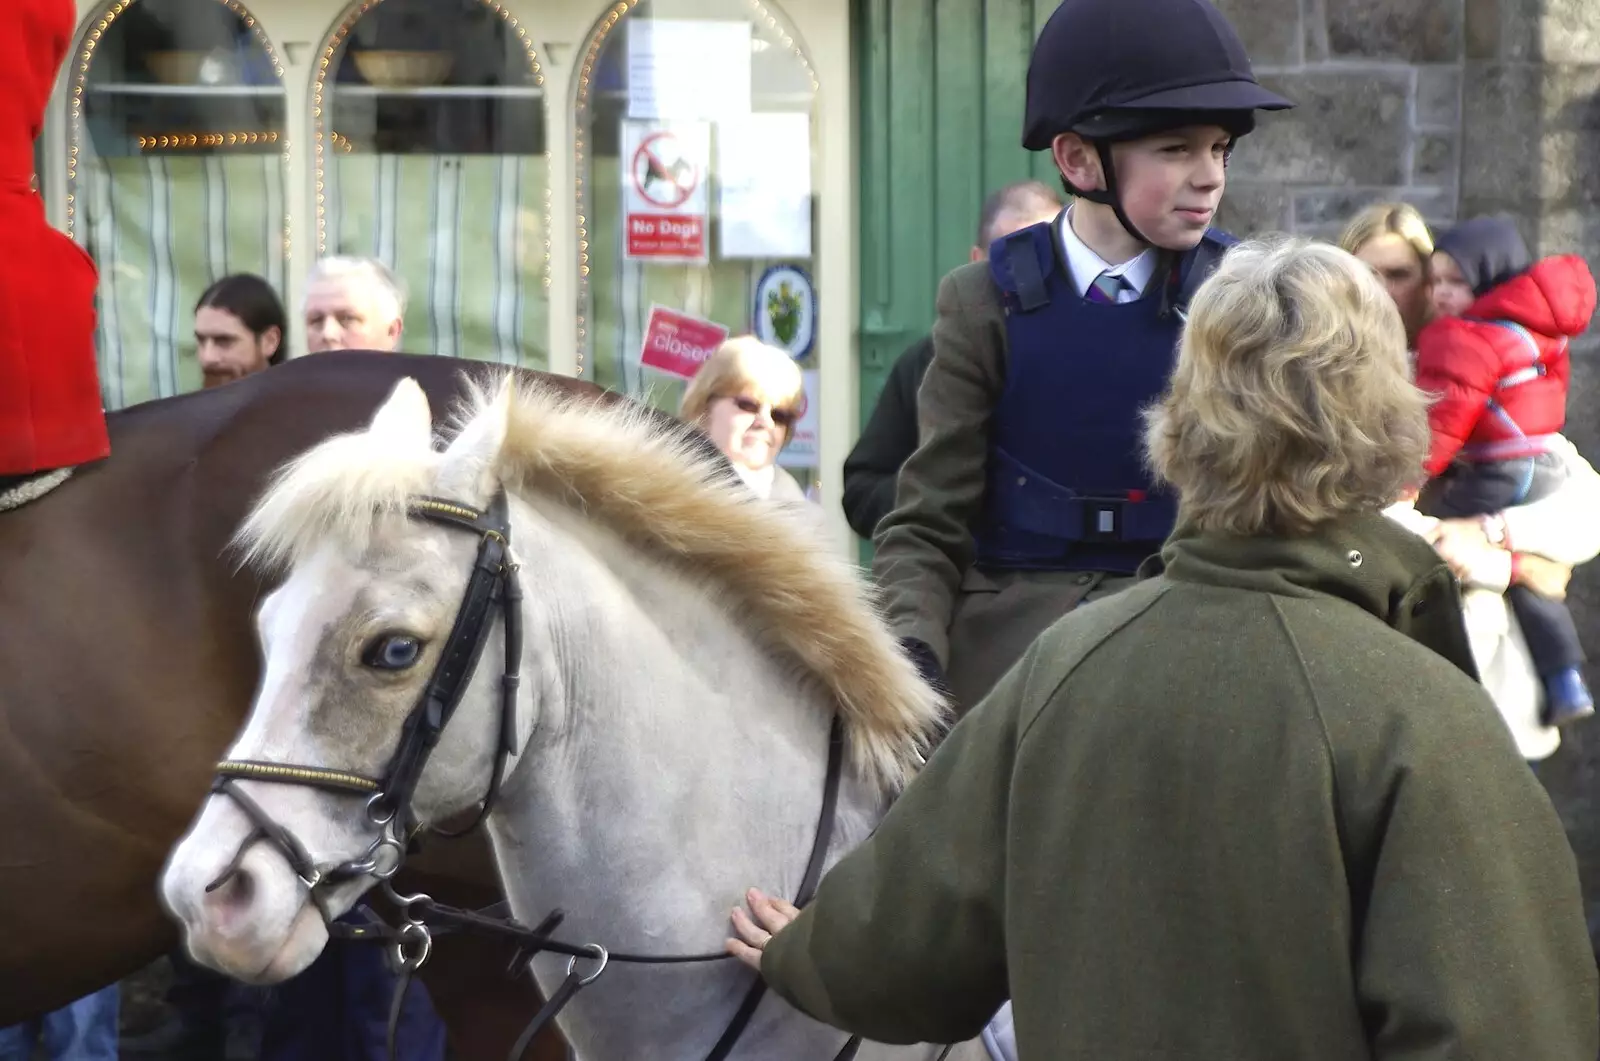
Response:
POLYGON ((811 256, 811 117, 717 123, 720 258, 811 256))

